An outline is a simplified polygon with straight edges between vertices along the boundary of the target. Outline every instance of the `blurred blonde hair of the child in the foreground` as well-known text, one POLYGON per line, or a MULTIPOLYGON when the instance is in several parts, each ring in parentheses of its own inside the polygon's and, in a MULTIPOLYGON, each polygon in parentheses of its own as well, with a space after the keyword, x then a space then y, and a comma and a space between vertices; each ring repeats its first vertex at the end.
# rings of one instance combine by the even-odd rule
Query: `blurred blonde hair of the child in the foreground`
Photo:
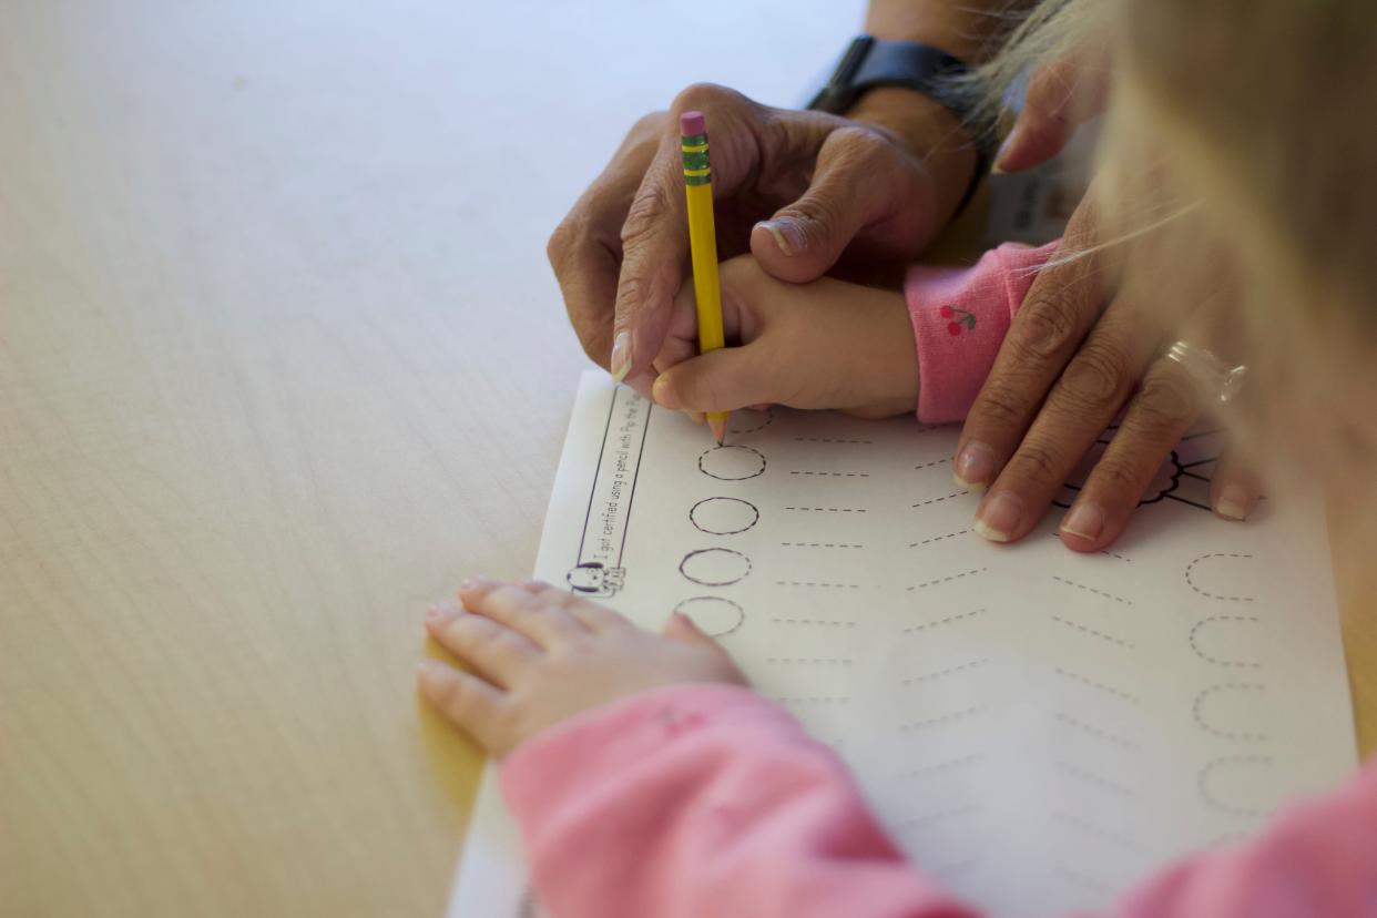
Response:
POLYGON ((1049 0, 983 74, 1108 50, 1099 241, 1122 244, 1120 289, 1164 330, 1250 365, 1235 420, 1254 453, 1377 454, 1377 409, 1354 398, 1377 380, 1374 40, 1371 0, 1049 0))

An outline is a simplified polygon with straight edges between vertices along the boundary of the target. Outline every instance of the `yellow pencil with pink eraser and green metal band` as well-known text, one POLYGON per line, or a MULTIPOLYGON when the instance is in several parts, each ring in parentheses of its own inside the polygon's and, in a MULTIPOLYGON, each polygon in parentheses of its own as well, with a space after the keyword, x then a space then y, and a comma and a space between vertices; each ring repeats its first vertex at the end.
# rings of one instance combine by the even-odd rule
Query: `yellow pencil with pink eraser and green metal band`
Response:
MULTIPOLYGON (((723 347, 722 286, 717 282, 717 230, 712 220, 712 167, 708 162, 708 122, 701 111, 679 117, 684 158, 684 194, 688 195, 688 252, 698 304, 698 352, 723 347)), ((727 412, 708 412, 708 427, 722 445, 727 436, 727 412)))

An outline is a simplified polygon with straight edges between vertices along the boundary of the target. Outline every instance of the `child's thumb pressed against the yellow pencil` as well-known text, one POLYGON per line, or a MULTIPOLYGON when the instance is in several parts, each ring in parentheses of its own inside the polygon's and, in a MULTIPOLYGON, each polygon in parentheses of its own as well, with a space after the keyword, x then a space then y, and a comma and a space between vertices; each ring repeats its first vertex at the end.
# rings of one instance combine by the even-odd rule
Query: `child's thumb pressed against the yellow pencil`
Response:
POLYGON ((709 351, 676 363, 660 374, 651 395, 657 405, 676 412, 735 412, 782 401, 779 380, 760 359, 755 344, 709 351))

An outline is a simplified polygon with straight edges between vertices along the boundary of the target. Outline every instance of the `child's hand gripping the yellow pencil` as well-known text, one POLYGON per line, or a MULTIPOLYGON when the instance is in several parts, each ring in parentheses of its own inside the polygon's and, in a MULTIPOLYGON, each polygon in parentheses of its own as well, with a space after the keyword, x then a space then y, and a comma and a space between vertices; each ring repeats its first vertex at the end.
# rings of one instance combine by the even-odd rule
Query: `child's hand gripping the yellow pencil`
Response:
POLYGON ((863 417, 913 412, 918 361, 903 295, 822 278, 778 281, 750 256, 722 264, 722 318, 742 347, 698 356, 691 285, 655 358, 655 402, 687 412, 778 403, 863 417))

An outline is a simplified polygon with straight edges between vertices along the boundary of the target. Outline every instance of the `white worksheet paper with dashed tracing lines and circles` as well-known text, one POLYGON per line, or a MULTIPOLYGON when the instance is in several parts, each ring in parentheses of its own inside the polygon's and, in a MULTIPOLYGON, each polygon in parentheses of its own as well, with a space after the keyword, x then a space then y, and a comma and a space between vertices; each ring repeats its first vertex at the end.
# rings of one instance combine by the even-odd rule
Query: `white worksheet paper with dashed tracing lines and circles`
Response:
MULTIPOLYGON (((587 373, 534 573, 717 634, 913 862, 997 915, 1103 906, 1355 768, 1318 497, 1215 517, 1202 431, 1113 551, 1067 551, 1058 512, 994 545, 953 484, 956 436, 771 409, 716 447, 587 373)), ((544 914, 525 877, 489 773, 450 915, 544 914)))

